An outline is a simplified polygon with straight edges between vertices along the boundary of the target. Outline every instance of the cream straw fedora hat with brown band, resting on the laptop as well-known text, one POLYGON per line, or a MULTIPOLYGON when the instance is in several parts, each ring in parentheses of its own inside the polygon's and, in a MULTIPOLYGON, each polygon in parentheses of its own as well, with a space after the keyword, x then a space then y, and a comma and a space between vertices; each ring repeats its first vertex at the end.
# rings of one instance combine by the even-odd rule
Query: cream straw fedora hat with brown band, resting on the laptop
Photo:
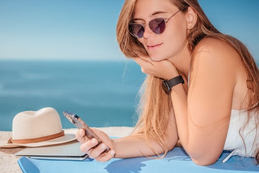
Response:
POLYGON ((0 141, 0 147, 38 147, 75 140, 74 134, 62 130, 58 112, 50 107, 20 112, 13 118, 12 137, 0 141))

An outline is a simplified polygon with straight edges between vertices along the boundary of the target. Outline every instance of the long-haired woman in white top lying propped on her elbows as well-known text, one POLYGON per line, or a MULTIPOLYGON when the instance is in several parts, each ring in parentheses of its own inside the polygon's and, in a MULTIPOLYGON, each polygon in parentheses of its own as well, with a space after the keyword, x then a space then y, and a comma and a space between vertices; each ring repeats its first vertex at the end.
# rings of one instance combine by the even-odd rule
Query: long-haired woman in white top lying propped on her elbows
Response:
POLYGON ((198 165, 215 163, 223 149, 259 163, 258 67, 244 44, 210 23, 197 0, 125 0, 117 41, 148 74, 141 116, 127 137, 109 139, 96 130, 105 141, 96 148, 97 140, 79 130, 83 152, 98 161, 165 155, 179 140, 198 165))

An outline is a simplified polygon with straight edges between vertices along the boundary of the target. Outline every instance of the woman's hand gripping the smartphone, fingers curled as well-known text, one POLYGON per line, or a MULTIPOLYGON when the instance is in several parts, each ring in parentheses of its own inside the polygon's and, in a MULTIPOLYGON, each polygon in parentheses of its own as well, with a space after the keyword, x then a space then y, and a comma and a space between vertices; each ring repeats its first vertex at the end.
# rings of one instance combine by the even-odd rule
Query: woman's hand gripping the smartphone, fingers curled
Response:
POLYGON ((75 137, 81 143, 80 150, 86 153, 89 158, 95 159, 99 162, 106 162, 110 160, 114 154, 114 143, 110 139, 110 137, 101 130, 92 129, 105 143, 101 143, 98 145, 98 140, 96 138, 88 139, 85 136, 85 131, 83 129, 79 129, 75 137), (109 152, 104 152, 109 146, 111 150, 109 152))

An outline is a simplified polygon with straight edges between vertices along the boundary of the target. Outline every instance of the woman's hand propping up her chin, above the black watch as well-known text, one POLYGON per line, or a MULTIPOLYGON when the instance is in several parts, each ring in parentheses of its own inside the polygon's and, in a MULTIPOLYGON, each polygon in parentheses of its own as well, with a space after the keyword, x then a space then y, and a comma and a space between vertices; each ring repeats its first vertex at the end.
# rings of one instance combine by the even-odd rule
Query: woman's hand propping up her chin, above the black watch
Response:
POLYGON ((152 61, 147 56, 134 58, 135 62, 141 66, 141 71, 146 74, 156 76, 165 80, 178 76, 178 71, 169 60, 152 61))

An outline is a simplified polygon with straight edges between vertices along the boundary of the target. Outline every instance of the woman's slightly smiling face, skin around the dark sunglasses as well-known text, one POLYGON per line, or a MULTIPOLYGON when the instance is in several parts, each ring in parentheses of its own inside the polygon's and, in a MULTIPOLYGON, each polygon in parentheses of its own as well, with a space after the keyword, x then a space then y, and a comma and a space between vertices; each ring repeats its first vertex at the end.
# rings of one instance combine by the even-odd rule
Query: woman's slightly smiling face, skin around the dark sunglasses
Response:
POLYGON ((139 42, 142 43, 153 61, 171 59, 185 49, 187 24, 185 14, 170 0, 137 0, 134 9, 134 23, 145 25, 145 32, 139 42), (148 22, 154 18, 169 18, 162 34, 150 30, 148 22))

